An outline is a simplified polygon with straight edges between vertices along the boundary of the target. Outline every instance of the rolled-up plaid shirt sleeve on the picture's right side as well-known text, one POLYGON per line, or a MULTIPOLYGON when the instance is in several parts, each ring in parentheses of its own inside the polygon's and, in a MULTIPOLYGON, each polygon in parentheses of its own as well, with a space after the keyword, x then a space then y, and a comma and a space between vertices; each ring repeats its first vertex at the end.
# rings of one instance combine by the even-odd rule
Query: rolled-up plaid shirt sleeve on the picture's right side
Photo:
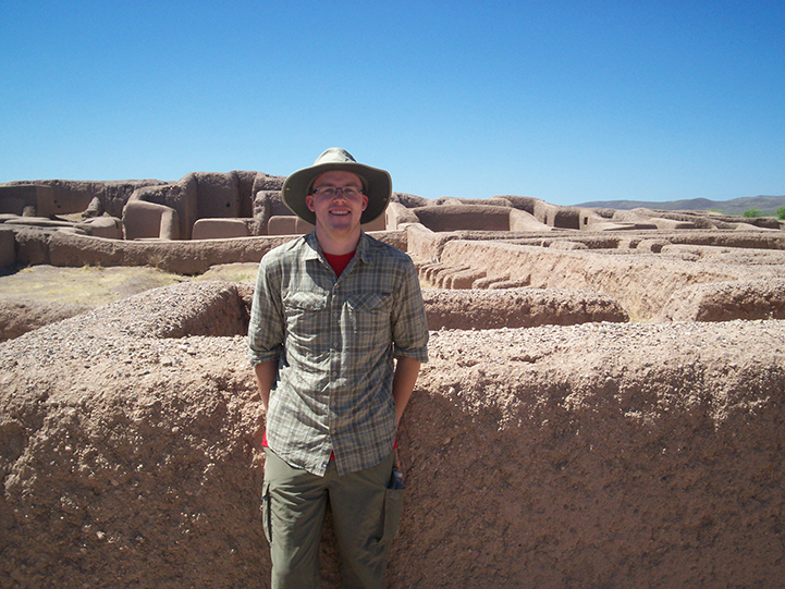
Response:
POLYGON ((393 356, 428 361, 428 319, 414 263, 404 267, 392 312, 393 356))

